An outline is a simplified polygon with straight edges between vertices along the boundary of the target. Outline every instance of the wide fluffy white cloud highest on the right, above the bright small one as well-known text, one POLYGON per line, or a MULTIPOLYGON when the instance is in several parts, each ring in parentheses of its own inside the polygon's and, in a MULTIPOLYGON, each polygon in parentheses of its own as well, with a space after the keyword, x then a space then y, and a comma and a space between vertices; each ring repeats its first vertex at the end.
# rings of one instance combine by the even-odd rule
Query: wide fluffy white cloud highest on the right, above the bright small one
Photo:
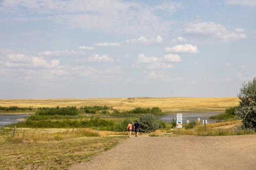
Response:
POLYGON ((241 32, 242 28, 238 30, 240 30, 240 32, 237 32, 237 29, 236 31, 228 31, 223 25, 213 22, 195 22, 186 24, 184 33, 194 37, 223 41, 247 38, 247 35, 241 32))

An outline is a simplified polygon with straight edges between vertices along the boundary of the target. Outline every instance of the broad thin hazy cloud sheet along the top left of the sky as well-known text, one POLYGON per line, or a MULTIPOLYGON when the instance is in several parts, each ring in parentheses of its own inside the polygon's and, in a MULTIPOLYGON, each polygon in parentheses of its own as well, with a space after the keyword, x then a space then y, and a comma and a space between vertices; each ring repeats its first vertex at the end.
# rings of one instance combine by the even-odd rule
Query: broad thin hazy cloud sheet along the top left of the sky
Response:
POLYGON ((20 18, 20 21, 52 20, 67 24, 72 28, 107 33, 125 33, 129 35, 166 34, 171 29, 171 21, 162 19, 159 10, 174 12, 180 3, 165 2, 152 7, 146 3, 122 0, 4 0, 5 12, 23 12, 31 14, 49 14, 46 17, 20 18), (24 9, 24 10, 21 10, 24 9), (157 10, 157 11, 156 11, 157 10))

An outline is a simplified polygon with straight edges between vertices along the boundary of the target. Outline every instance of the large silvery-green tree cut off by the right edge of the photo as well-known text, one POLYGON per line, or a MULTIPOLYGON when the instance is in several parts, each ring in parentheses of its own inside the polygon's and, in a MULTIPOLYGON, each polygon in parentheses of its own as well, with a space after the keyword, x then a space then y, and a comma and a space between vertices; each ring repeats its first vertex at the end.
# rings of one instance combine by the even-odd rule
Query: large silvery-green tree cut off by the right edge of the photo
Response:
POLYGON ((256 77, 242 85, 238 98, 240 102, 235 111, 236 116, 242 119, 244 128, 256 130, 256 77))

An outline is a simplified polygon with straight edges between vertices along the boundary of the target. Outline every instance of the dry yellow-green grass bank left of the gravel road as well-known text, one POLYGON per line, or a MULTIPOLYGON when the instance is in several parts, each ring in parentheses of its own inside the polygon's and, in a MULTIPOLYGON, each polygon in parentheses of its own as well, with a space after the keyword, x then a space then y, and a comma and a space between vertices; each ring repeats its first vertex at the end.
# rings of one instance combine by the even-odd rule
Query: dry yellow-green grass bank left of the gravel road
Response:
POLYGON ((11 128, 1 128, 0 169, 65 169, 116 146, 126 138, 121 134, 90 129, 18 128, 13 138, 11 128))

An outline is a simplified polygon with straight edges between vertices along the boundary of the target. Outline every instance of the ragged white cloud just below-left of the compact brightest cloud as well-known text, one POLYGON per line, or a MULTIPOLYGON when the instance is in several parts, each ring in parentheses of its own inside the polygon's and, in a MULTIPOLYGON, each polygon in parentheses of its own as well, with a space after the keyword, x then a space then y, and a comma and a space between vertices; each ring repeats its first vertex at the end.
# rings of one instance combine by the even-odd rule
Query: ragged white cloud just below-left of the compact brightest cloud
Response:
POLYGON ((177 54, 168 54, 163 57, 147 57, 145 54, 139 54, 137 63, 133 67, 138 68, 173 68, 171 62, 180 62, 181 58, 177 54))

